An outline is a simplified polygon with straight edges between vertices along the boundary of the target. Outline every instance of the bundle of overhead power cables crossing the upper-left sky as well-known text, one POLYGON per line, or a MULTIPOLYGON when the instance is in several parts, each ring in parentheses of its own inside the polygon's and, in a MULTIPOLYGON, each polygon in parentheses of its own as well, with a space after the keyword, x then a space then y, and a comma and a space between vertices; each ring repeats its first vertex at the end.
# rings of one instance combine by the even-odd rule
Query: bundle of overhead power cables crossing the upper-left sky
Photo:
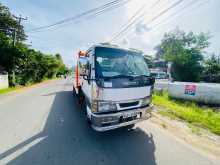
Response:
POLYGON ((93 14, 93 13, 95 13, 97 11, 101 12, 101 11, 104 11, 104 10, 112 7, 112 6, 118 5, 120 3, 122 3, 122 4, 123 3, 128 3, 129 1, 131 1, 131 0, 114 0, 114 1, 108 2, 108 3, 104 4, 104 5, 101 5, 99 7, 90 9, 90 10, 85 11, 85 12, 80 13, 80 14, 77 14, 77 15, 75 15, 73 17, 63 19, 61 21, 58 21, 58 22, 50 24, 50 25, 40 26, 38 28, 34 28, 34 29, 31 29, 31 30, 28 30, 27 32, 35 32, 35 31, 39 31, 39 30, 43 30, 43 29, 48 29, 48 28, 51 28, 51 27, 54 27, 54 26, 58 26, 58 25, 66 23, 66 22, 75 21, 75 20, 78 20, 78 19, 80 19, 82 17, 85 17, 85 16, 88 16, 90 14, 93 14))

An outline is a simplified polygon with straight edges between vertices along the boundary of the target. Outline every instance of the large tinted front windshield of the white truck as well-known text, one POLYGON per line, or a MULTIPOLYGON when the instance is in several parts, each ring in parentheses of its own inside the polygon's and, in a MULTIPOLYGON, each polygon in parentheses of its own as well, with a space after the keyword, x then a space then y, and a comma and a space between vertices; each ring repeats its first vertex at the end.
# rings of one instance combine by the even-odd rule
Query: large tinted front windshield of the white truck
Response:
POLYGON ((97 47, 95 59, 98 78, 150 76, 141 53, 97 47))

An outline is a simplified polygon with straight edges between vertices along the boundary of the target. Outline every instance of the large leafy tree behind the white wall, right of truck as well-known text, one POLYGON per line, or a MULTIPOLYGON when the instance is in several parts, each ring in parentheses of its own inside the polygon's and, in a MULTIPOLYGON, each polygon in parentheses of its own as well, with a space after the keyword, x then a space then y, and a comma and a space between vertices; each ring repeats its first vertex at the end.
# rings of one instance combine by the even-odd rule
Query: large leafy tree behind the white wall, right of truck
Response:
POLYGON ((197 82, 202 73, 203 51, 209 46, 210 35, 185 33, 179 29, 166 33, 159 47, 163 58, 172 62, 171 75, 175 81, 197 82))

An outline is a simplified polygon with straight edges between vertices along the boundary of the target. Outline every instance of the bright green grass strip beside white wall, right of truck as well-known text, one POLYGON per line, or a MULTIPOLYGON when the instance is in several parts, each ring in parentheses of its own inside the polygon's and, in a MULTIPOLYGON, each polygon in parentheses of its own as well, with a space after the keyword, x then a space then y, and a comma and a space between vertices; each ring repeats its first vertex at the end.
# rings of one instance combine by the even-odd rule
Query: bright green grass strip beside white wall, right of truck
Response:
POLYGON ((204 108, 193 102, 171 99, 167 92, 155 92, 153 103, 161 107, 159 114, 188 122, 193 132, 198 132, 196 127, 201 127, 220 135, 220 113, 209 107, 204 108))

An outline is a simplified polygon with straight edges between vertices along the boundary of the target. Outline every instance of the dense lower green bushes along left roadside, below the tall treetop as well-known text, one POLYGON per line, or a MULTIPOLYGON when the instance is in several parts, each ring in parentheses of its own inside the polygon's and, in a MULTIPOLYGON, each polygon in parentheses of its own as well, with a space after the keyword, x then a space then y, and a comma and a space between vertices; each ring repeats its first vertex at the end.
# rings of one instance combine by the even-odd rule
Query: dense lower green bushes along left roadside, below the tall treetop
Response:
MULTIPOLYGON (((68 73, 61 55, 45 55, 27 45, 17 43, 12 45, 9 37, 0 33, 0 65, 9 75, 16 75, 16 84, 27 85, 40 82, 47 78, 68 73)), ((10 80, 10 85, 13 85, 10 80)))

